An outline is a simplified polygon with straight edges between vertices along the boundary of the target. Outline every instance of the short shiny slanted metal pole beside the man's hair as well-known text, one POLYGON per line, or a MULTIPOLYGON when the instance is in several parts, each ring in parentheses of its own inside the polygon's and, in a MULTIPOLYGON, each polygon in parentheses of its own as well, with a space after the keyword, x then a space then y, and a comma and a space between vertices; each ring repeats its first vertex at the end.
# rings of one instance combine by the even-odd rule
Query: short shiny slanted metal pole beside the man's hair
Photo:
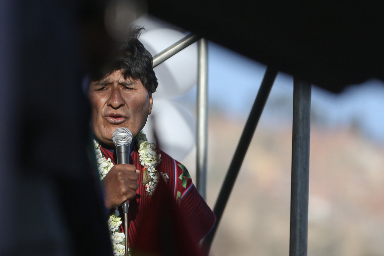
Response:
POLYGON ((175 55, 176 53, 180 52, 184 48, 189 47, 192 45, 192 43, 199 40, 201 37, 190 33, 189 35, 181 38, 179 41, 174 43, 173 45, 170 45, 166 49, 162 50, 161 52, 157 53, 153 57, 152 67, 156 67, 157 65, 163 63, 164 61, 168 60, 170 57, 175 55))

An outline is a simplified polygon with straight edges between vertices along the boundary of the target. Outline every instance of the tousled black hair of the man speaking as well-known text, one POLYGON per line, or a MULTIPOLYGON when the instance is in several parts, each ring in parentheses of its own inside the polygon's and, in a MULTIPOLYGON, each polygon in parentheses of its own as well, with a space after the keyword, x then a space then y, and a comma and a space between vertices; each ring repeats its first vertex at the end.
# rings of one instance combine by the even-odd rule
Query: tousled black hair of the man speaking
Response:
POLYGON ((152 68, 152 55, 139 41, 144 27, 132 27, 127 40, 118 51, 113 65, 107 75, 116 70, 122 70, 125 79, 140 79, 149 93, 154 93, 157 88, 157 78, 152 68))

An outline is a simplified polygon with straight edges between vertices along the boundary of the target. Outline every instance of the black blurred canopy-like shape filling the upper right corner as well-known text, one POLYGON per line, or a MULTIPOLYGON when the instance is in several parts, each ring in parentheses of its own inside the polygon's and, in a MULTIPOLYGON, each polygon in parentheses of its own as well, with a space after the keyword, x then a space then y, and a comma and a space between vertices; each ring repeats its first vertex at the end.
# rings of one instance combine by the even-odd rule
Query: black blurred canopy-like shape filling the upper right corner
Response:
POLYGON ((384 80, 384 1, 147 2, 149 14, 330 91, 384 80))

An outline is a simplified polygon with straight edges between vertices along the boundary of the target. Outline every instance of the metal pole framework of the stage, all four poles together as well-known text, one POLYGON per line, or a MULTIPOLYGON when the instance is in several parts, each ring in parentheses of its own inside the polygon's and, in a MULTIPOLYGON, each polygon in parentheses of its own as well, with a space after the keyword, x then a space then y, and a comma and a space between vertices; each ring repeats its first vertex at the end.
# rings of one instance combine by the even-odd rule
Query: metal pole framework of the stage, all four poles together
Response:
MULTIPOLYGON (((196 187, 206 198, 208 125, 208 41, 191 33, 153 57, 153 67, 198 41, 196 187)), ((214 206, 216 223, 204 238, 209 253, 220 219, 255 133, 278 70, 267 67, 260 89, 214 206)), ((291 172, 290 256, 306 256, 308 247, 308 188, 310 156, 311 84, 294 78, 291 172)))

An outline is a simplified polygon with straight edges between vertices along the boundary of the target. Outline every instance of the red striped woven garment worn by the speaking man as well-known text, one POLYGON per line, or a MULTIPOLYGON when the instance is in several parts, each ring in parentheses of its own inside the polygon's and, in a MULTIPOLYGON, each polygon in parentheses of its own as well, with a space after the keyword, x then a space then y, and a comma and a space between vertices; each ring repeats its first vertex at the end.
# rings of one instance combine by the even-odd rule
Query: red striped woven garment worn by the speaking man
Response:
MULTIPOLYGON (((103 156, 107 159, 111 158, 111 161, 116 165, 116 154, 103 148, 103 146, 100 149, 103 156)), ((161 161, 156 170, 159 173, 166 173, 168 175, 167 185, 174 194, 175 200, 182 207, 190 227, 194 229, 192 232, 200 240, 212 229, 216 217, 192 183, 188 170, 163 151, 160 151, 160 154, 161 161)), ((128 241, 130 246, 133 246, 141 213, 146 208, 150 198, 146 195, 145 187, 142 184, 144 166, 139 163, 139 153, 137 150, 132 151, 129 163, 136 166, 137 170, 140 170, 139 180, 137 181, 139 189, 136 191, 136 197, 129 202, 128 241)), ((123 214, 121 215, 124 216, 123 214)))

